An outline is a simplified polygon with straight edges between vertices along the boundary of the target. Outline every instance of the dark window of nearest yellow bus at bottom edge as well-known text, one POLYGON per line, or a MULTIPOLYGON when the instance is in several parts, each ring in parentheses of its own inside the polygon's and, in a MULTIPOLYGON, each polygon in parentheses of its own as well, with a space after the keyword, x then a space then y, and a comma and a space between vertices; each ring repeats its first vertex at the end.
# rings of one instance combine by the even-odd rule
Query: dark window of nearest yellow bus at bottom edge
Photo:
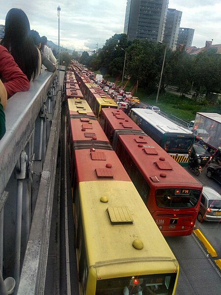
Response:
POLYGON ((97 281, 96 295, 164 294, 171 295, 176 274, 154 274, 97 281), (151 293, 152 292, 152 293, 151 293))

